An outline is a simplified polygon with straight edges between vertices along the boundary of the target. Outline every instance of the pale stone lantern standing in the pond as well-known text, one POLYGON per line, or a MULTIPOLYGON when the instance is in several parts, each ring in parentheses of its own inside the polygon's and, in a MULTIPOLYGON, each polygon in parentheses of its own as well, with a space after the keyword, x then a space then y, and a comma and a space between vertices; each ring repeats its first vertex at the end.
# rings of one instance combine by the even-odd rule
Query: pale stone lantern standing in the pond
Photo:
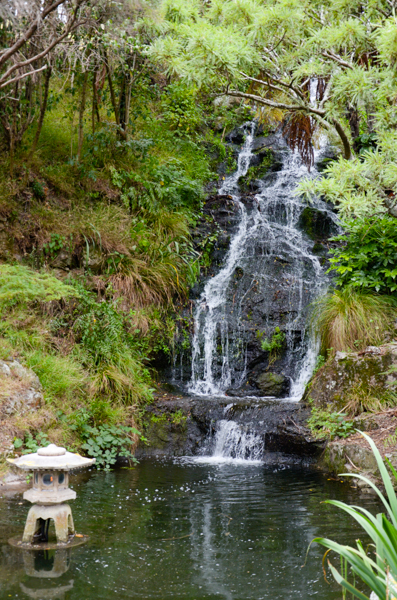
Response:
POLYGON ((50 444, 34 454, 7 460, 19 469, 33 471, 33 487, 23 495, 33 506, 26 520, 22 544, 47 542, 50 519, 54 521, 57 542, 68 542, 75 530, 72 511, 65 502, 76 498, 76 492, 69 488, 69 471, 89 467, 95 458, 84 458, 50 444))

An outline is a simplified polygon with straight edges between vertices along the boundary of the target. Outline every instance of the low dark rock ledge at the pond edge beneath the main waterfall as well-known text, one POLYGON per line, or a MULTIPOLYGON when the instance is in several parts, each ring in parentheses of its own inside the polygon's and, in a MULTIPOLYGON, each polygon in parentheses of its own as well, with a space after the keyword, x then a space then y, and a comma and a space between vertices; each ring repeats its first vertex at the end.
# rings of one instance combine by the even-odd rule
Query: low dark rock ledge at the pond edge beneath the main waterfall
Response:
POLYGON ((221 420, 237 422, 246 433, 263 440, 267 462, 315 460, 325 442, 316 440, 305 427, 308 409, 297 402, 265 401, 255 398, 178 398, 157 400, 146 408, 143 432, 136 456, 194 456, 221 420))

